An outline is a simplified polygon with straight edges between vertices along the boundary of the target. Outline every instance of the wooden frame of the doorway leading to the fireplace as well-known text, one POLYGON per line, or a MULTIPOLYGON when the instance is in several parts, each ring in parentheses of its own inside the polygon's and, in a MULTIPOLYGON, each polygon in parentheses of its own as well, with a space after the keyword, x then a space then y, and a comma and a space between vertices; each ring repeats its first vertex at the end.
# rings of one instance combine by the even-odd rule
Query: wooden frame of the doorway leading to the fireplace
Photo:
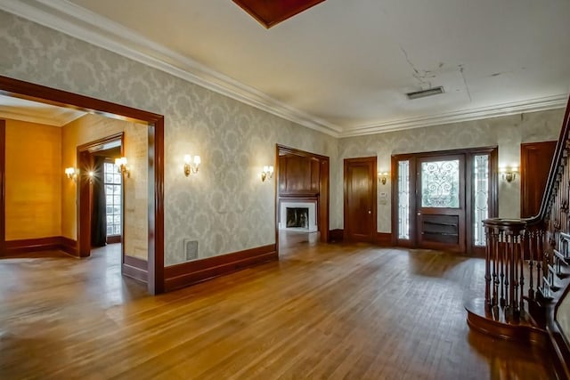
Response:
POLYGON ((330 158, 305 150, 297 150, 285 145, 275 144, 275 171, 273 185, 275 194, 275 247, 279 254, 279 156, 280 153, 292 154, 300 157, 315 158, 319 160, 319 194, 317 198, 317 219, 322 243, 329 242, 330 218, 330 158))

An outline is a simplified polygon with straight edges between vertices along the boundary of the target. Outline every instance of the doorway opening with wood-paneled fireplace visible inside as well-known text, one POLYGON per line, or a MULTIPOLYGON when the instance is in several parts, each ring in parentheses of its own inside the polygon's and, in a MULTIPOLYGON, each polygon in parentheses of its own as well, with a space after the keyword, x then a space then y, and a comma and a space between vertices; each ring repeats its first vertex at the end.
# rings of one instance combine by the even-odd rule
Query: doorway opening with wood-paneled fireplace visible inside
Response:
POLYGON ((330 159, 281 145, 276 155, 278 252, 297 244, 328 242, 330 159))

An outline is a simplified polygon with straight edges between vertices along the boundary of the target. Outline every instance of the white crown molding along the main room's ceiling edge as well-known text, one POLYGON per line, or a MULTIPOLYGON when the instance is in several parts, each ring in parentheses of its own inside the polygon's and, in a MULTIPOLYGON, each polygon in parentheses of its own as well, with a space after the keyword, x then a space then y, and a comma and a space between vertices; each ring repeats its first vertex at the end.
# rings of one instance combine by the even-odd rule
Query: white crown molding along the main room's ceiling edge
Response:
POLYGON ((163 45, 156 44, 114 21, 69 3, 67 0, 0 0, 0 9, 118 53, 151 68, 180 77, 256 109, 262 109, 277 117, 337 138, 558 109, 564 108, 567 101, 567 94, 564 94, 430 116, 409 117, 367 125, 340 126, 290 107, 253 87, 209 69, 197 61, 175 53, 163 45))

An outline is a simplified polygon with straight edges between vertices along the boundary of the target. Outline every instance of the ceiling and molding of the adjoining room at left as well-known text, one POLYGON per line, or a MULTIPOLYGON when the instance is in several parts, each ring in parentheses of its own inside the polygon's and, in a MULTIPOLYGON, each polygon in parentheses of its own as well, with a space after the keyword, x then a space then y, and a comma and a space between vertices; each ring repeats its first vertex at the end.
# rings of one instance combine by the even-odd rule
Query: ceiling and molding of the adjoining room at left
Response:
POLYGON ((63 126, 85 114, 86 112, 77 109, 68 109, 0 94, 0 118, 63 126))

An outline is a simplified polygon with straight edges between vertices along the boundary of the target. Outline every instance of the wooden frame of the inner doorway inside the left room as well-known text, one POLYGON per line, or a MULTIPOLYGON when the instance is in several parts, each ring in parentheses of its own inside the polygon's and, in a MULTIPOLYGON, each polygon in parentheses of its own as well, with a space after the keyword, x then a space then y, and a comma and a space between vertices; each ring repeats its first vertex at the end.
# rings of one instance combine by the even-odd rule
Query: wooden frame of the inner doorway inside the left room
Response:
MULTIPOLYGON (((93 215, 92 200, 93 187, 90 178, 83 168, 92 165, 89 158, 93 157, 92 152, 102 150, 105 144, 120 141, 121 156, 125 155, 125 133, 115 133, 101 139, 90 141, 77 146, 77 167, 79 168, 79 176, 77 178, 77 255, 79 257, 88 257, 91 254, 91 219, 93 215)), ((123 175, 122 184, 125 183, 125 175, 123 175)), ((121 191, 121 231, 125 233, 125 191, 121 191)), ((125 263, 125 239, 121 244, 121 263, 125 263)))

